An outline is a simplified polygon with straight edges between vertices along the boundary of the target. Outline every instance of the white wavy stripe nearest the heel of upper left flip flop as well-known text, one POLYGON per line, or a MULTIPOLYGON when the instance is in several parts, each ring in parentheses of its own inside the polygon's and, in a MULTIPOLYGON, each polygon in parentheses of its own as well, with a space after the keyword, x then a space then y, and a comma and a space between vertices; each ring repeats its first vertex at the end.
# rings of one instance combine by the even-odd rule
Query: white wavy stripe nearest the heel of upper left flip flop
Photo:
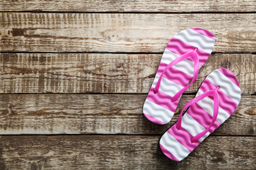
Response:
POLYGON ((143 113, 150 115, 151 117, 156 118, 157 120, 160 120, 164 123, 169 123, 171 118, 174 116, 172 111, 169 111, 168 109, 159 106, 149 100, 146 100, 144 103, 143 113))

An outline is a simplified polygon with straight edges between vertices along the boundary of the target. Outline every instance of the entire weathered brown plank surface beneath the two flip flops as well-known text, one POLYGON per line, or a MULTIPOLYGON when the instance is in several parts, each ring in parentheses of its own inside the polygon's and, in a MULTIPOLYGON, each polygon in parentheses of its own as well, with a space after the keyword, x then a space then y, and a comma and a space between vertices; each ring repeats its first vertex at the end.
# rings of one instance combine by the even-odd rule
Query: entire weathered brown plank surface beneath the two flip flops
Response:
POLYGON ((256 169, 256 1, 0 1, 0 169, 256 169), (214 33, 168 125, 142 106, 169 40, 214 33), (159 149, 207 74, 240 82, 234 115, 182 162, 159 149))

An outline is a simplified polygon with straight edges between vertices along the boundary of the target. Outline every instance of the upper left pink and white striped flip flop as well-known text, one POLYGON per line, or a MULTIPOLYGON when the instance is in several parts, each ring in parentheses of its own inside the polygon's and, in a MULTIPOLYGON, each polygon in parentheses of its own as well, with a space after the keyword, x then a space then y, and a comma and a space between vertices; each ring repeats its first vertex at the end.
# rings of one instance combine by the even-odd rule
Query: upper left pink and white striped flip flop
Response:
POLYGON ((213 51, 214 42, 213 33, 201 28, 182 30, 169 41, 144 102, 147 119, 161 125, 169 123, 181 95, 213 51))

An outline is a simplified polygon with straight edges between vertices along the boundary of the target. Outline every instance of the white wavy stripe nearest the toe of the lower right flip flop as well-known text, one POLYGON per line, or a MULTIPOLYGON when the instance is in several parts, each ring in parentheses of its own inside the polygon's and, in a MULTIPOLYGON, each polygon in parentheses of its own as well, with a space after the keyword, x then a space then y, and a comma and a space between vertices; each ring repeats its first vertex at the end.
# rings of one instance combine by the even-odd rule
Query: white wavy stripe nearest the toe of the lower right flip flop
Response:
POLYGON ((235 103, 239 104, 241 99, 241 90, 240 88, 234 84, 233 81, 228 79, 220 70, 215 69, 211 72, 208 77, 215 86, 220 86, 220 90, 223 91, 224 94, 229 96, 235 103))

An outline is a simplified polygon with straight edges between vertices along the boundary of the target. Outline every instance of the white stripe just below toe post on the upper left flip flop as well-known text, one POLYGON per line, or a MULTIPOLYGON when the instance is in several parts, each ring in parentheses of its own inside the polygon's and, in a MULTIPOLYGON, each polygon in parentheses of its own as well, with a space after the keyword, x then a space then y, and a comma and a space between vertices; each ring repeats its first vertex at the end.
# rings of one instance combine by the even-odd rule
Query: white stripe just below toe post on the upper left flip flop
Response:
MULTIPOLYGON (((163 57, 161 58, 161 62, 164 62, 165 64, 170 64, 172 61, 174 61, 178 57, 180 56, 166 49, 164 50, 164 54, 163 54, 163 57)), ((191 62, 191 60, 185 59, 179 62, 178 64, 175 64, 173 67, 193 77, 194 62, 191 62)), ((202 66, 199 65, 199 69, 201 67, 202 66)))

